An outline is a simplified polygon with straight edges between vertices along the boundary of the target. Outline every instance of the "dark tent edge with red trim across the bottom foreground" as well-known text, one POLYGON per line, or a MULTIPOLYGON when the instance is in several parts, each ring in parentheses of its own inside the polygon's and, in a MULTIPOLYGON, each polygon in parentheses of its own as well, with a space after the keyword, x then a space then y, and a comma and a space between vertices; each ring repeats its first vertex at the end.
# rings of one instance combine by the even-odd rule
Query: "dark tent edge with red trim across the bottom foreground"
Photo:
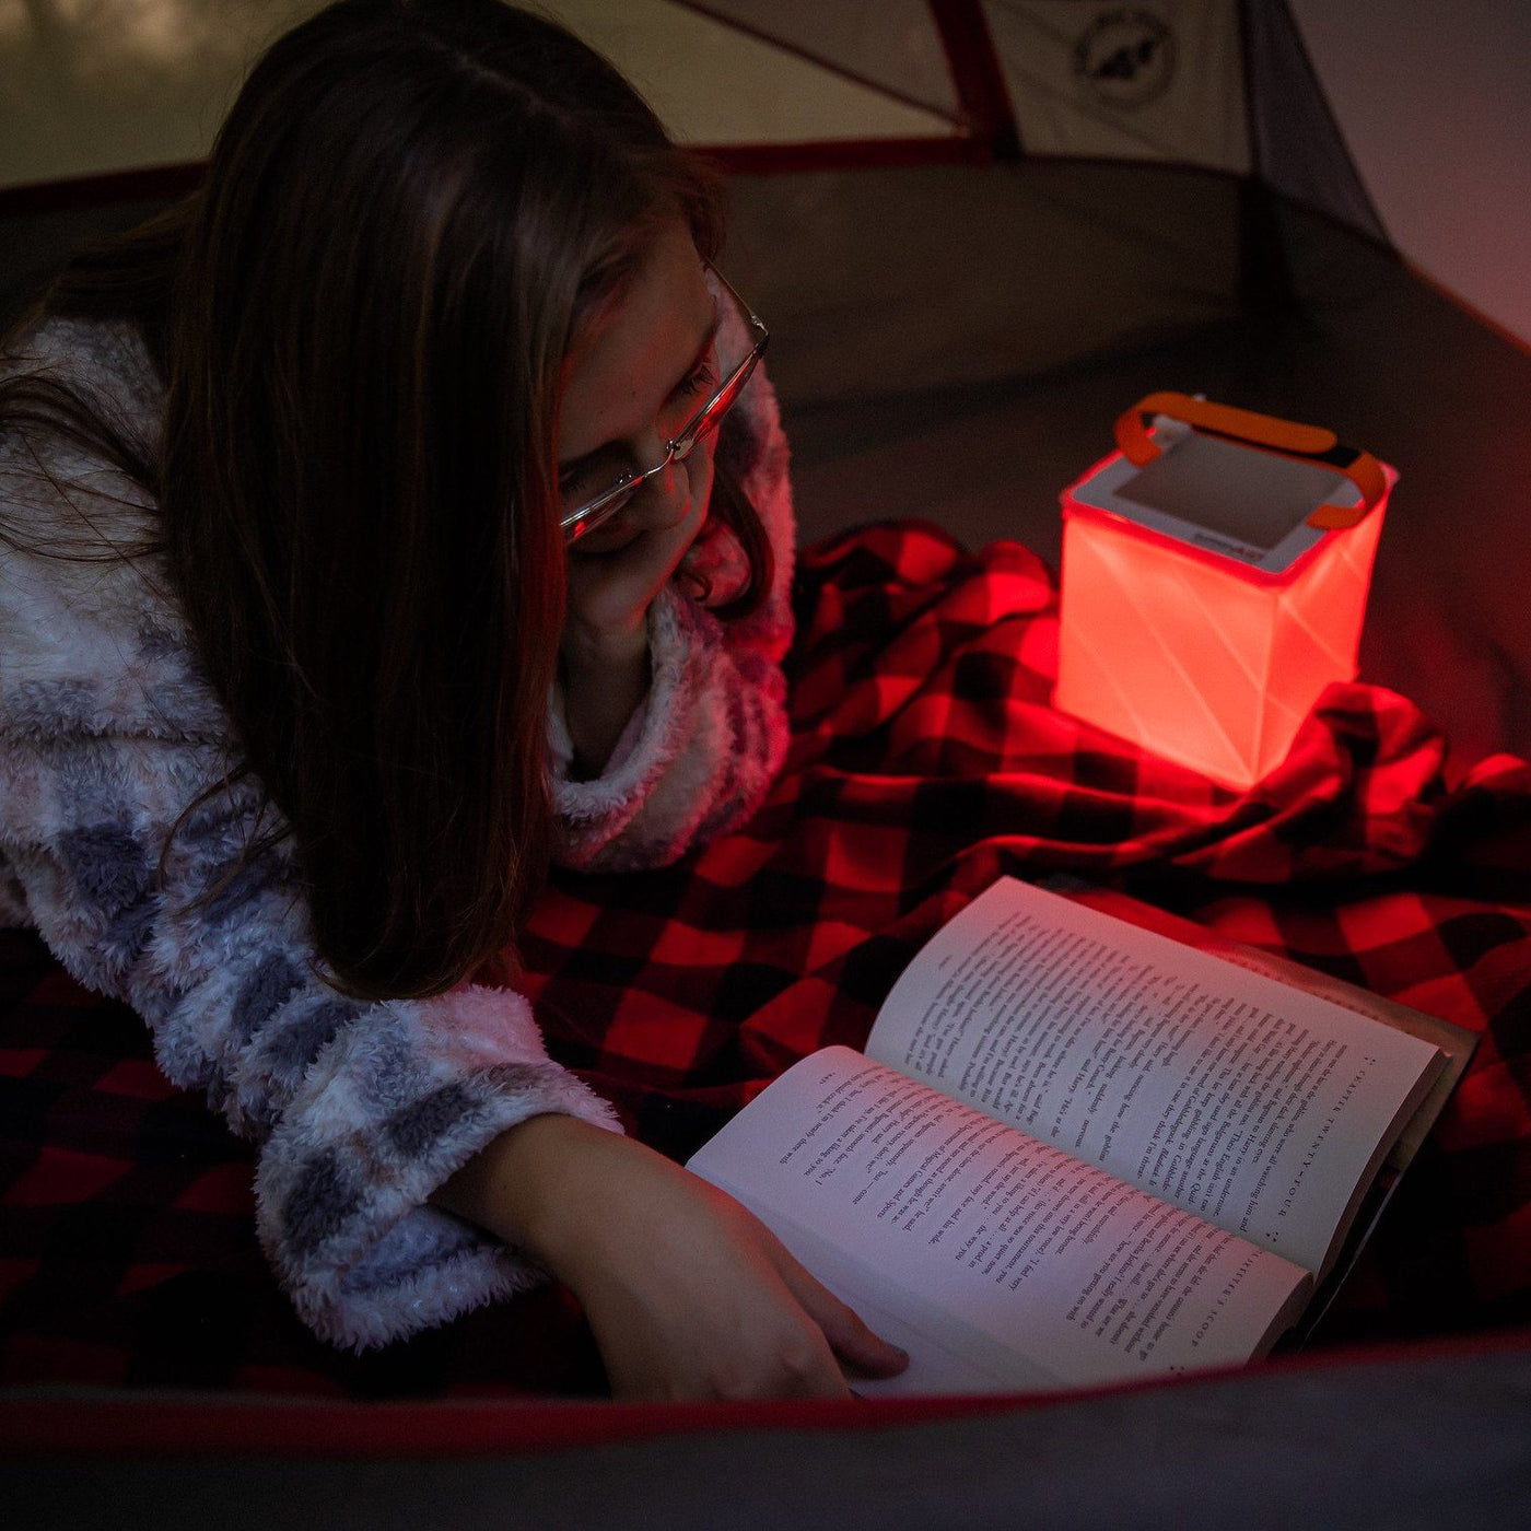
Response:
MULTIPOLYGON (((1523 1337, 1491 1350, 1347 1356, 926 1422, 891 1404, 713 1407, 700 1425, 700 1410, 609 1405, 351 1405, 337 1419, 312 1405, 197 1395, 168 1405, 75 1402, 70 1439, 28 1428, 21 1409, 54 1421, 63 1410, 11 1412, 15 1439, 61 1441, 0 1464, 6 1505, 32 1531, 202 1531, 210 1507, 237 1507, 248 1528, 337 1531, 438 1522, 461 1531, 1500 1531, 1522 1519, 1531 1493, 1523 1337), (184 1444, 149 1456, 145 1427, 159 1427, 149 1441, 184 1444), (528 1454, 528 1441, 550 1436, 566 1448, 528 1454)), ((11 1419, 0 1410, 0 1439, 11 1419)))

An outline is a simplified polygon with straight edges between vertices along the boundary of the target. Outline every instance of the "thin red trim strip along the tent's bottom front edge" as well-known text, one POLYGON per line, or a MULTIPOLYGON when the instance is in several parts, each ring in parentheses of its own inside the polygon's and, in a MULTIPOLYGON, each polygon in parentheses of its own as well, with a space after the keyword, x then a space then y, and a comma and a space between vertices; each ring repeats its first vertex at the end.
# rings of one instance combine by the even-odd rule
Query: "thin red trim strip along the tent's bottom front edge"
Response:
MULTIPOLYGON (((1281 1401, 1289 1405, 1295 1398, 1306 1399, 1303 1419, 1309 1427, 1309 1439, 1323 1441, 1321 1450, 1327 1453, 1344 1441, 1355 1441, 1367 1421, 1387 1421, 1390 1410, 1378 1407, 1384 1398, 1402 1401, 1401 1412, 1413 1415, 1419 1407, 1436 1407, 1445 1384, 1456 1409, 1439 1412, 1436 1433, 1431 1435, 1435 1450, 1425 1453, 1441 1459, 1454 1456, 1441 1448, 1438 1433, 1439 1427, 1453 1421, 1464 1428, 1467 1419, 1474 1421, 1473 1428, 1491 1422, 1497 1438, 1523 1448, 1523 1433, 1517 1442, 1513 1428, 1525 1410, 1531 1410, 1531 1390, 1523 1381, 1528 1369, 1531 1330, 1511 1330, 1503 1335, 1409 1346, 1353 1346, 1285 1356, 1260 1367, 1180 1376, 1148 1387, 1118 1382, 1067 1395, 750 1399, 658 1407, 566 1401, 556 1409, 513 1399, 464 1398, 432 1402, 378 1401, 357 1407, 314 1398, 44 1386, 0 1396, 0 1470, 9 1459, 43 1458, 70 1462, 78 1471, 92 1458, 119 1459, 153 1453, 165 1441, 175 1441, 182 1458, 211 1458, 225 1467, 251 1458, 266 1459, 269 1464, 276 1459, 367 1462, 386 1458, 418 1461, 430 1456, 447 1471, 461 1468, 473 1458, 524 1459, 534 1453, 632 1442, 658 1442, 660 1451, 655 1456, 663 1458, 666 1438, 712 1435, 721 1438, 720 1444, 738 1447, 743 1444, 738 1436, 746 1431, 752 1436, 750 1458, 756 1462, 773 1458, 773 1438, 778 1447, 792 1453, 805 1442, 810 1431, 830 1436, 831 1450, 837 1448, 842 1459, 856 1451, 851 1435, 882 1438, 883 1442, 912 1438, 926 1448, 935 1445, 939 1435, 946 1435, 958 1453, 965 1454, 963 1447, 977 1444, 972 1438, 987 1430, 984 1421, 1009 1435, 1015 1445, 1024 1447, 1026 1454, 1043 1448, 1036 1438, 1046 1438, 1063 1427, 1073 1436, 1069 1454, 1082 1450, 1093 1459, 1101 1439, 1121 1442, 1133 1428, 1133 1421, 1150 1431, 1188 1428, 1187 1445, 1205 1445, 1206 1421, 1213 1410, 1231 1425, 1237 1421, 1237 1430, 1249 1448, 1257 1442, 1260 1448, 1266 1448, 1266 1430, 1278 1428, 1289 1435, 1291 1415, 1283 1416, 1277 1410, 1281 1401), (1520 1395, 1519 1407, 1513 1402, 1516 1393, 1520 1395), (1369 1404, 1358 1407, 1361 1399, 1369 1404), (1484 1419, 1488 1409, 1494 1413, 1484 1419), (1346 1428, 1320 1431, 1314 1412, 1344 1419, 1346 1428), (1118 1418, 1118 1427, 1099 1431, 1093 1422, 1112 1415, 1118 1418), (1073 1424, 1064 1425, 1063 1421, 1073 1424), (1092 1424, 1085 1425, 1085 1421, 1092 1424), (955 1428, 945 1430, 951 1422, 955 1422, 955 1428)), ((1390 1421, 1384 1431, 1398 1424, 1398 1419, 1390 1421)), ((1464 1442, 1471 1439, 1471 1435, 1464 1433, 1464 1442)), ((1288 1439, 1286 1445, 1291 1447, 1292 1441, 1288 1439)), ((1462 1453, 1464 1459, 1470 1454, 1462 1453)), ((1522 1458, 1523 1450, 1514 1453, 1516 1461, 1522 1458)), ((831 1456, 828 1462, 833 1461, 831 1456)), ((925 1461, 932 1462, 934 1451, 925 1461)), ((1055 1458, 1055 1465, 1063 1468, 1072 1464, 1055 1458)), ((1531 1461, 1523 1465, 1531 1470, 1531 1461)), ((1036 1467, 1032 1461, 1023 1471, 1032 1476, 1036 1467)), ((1098 1474, 1089 1476, 1093 1480, 1098 1474)), ((1122 1476, 1130 1484, 1134 1482, 1131 1474, 1122 1476)), ((1113 1482, 1121 1484, 1122 1476, 1115 1476, 1113 1482)), ((880 1473, 879 1479, 882 1490, 900 1490, 896 1474, 880 1473)), ((1115 1493, 1124 1490, 1118 1487, 1115 1493)), ((646 1497, 641 1502, 649 1503, 646 1497)), ((870 1523, 882 1525, 883 1520, 870 1523)), ((1012 1525, 1014 1520, 1004 1523, 1012 1525)), ((1248 1523, 1240 1519, 1240 1525, 1248 1523)))

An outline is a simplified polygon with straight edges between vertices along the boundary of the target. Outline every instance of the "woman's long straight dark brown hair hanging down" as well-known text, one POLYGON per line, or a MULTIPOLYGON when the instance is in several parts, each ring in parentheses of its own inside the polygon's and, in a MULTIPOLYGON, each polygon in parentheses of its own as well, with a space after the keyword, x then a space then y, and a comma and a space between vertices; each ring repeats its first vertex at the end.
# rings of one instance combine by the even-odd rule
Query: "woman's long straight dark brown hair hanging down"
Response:
MULTIPOLYGON (((438 994, 504 958, 551 844, 554 438, 580 325, 713 185, 597 54, 502 0, 341 0, 256 64, 202 187, 44 314, 136 323, 158 442, 38 374, 47 429, 159 505, 159 551, 291 833, 326 977, 438 994)), ((758 519, 715 501, 769 579, 758 519)), ((201 801, 201 799, 199 799, 201 801)), ((194 807, 194 805, 193 805, 194 807)))

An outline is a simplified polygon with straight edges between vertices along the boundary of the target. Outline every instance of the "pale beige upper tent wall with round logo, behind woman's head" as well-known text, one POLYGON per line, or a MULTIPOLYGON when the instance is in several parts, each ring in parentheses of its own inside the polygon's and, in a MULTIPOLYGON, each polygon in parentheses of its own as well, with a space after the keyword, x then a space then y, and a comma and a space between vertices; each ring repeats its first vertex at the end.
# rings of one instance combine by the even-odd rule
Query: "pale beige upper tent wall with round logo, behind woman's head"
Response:
MULTIPOLYGON (((0 184, 204 156, 248 58, 318 8, 242 0, 234 24, 222 6, 216 26, 208 0, 152 0, 115 24, 61 14, 0 29, 0 60, 17 80, 15 101, 0 106, 0 184), (135 67, 112 69, 113 60, 135 67), (69 132, 49 133, 61 119, 69 132)), ((1285 0, 548 0, 545 9, 700 147, 966 136, 991 153, 1239 176, 1255 162, 1251 124, 1280 116, 1288 136, 1323 138, 1329 164, 1344 161, 1312 72, 1292 90, 1300 63, 1262 64, 1265 43, 1292 32, 1285 0), (1245 28, 1246 11, 1262 24, 1245 28), (1281 93, 1255 101, 1254 83, 1281 93)), ((1268 135, 1265 173, 1280 175, 1281 147, 1268 135)))

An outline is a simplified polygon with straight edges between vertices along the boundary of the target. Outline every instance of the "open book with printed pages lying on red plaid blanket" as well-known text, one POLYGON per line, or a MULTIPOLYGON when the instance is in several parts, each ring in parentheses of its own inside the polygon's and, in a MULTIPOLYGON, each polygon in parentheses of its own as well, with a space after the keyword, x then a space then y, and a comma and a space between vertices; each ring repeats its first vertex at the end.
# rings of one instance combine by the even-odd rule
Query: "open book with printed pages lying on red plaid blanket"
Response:
POLYGON ((857 1392, 1265 1355, 1465 1067, 1459 1027, 1092 902, 1133 923, 1001 879, 899 978, 865 1056, 804 1058, 690 1159, 909 1352, 857 1392))

